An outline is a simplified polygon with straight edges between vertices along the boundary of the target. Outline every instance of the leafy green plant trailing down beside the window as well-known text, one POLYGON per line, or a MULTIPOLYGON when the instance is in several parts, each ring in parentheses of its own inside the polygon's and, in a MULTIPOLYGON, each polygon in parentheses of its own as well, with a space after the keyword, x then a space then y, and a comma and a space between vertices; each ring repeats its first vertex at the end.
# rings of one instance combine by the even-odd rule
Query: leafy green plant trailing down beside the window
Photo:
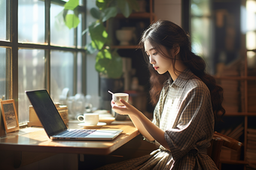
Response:
MULTIPOLYGON (((87 52, 90 54, 96 52, 95 68, 101 78, 101 91, 112 90, 115 92, 122 89, 113 87, 113 85, 120 85, 120 83, 115 81, 120 81, 122 77, 123 61, 120 55, 118 55, 117 49, 111 49, 111 37, 108 36, 106 22, 108 19, 117 16, 119 12, 127 18, 133 10, 139 10, 139 4, 136 0, 96 0, 96 7, 90 9, 90 13, 96 21, 88 25, 83 34, 88 33, 91 39, 91 42, 86 46, 87 52)), ((78 26, 78 0, 66 2, 62 13, 64 22, 69 28, 78 26), (68 13, 69 10, 74 12, 68 13)), ((104 93, 101 91, 100 94, 102 96, 104 93)), ((106 95, 108 94, 106 93, 106 95)), ((111 100, 111 95, 106 97, 108 100, 111 100)), ((102 100, 107 100, 106 97, 102 96, 102 100)))

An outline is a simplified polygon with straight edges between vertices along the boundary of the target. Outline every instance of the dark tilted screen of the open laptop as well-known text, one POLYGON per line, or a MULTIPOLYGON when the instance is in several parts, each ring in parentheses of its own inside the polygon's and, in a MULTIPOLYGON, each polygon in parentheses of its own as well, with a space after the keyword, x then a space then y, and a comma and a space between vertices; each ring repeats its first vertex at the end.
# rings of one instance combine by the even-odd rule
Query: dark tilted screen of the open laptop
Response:
POLYGON ((67 129, 47 90, 26 91, 26 95, 49 137, 67 129))

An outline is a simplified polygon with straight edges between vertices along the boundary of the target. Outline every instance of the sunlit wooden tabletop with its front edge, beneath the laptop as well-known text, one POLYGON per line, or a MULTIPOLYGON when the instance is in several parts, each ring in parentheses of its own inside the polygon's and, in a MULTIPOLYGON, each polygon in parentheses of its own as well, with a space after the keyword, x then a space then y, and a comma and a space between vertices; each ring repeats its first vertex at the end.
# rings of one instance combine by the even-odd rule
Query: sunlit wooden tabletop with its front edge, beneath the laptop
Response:
MULTIPOLYGON (((70 123, 69 128, 78 126, 70 123)), ((101 129, 120 129, 123 133, 112 141, 64 141, 50 140, 43 128, 28 127, 0 138, 0 150, 107 155, 139 135, 131 121, 114 121, 101 129)))

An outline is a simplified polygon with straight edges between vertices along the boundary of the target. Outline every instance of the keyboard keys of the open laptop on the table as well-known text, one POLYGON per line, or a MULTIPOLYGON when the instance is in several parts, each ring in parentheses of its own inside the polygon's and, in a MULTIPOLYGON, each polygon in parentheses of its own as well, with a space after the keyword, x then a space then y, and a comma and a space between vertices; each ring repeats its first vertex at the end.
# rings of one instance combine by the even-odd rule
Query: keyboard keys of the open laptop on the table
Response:
POLYGON ((90 135, 90 133, 96 130, 66 130, 65 132, 59 133, 57 136, 60 137, 84 137, 90 135))

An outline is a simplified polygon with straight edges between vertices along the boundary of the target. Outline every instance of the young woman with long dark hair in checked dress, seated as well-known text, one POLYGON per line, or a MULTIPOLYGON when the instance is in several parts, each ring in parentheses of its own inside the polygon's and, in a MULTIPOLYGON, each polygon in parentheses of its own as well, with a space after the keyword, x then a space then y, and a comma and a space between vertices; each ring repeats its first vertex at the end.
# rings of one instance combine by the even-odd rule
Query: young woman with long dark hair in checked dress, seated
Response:
POLYGON ((215 119, 224 115, 223 90, 206 73, 203 58, 190 49, 185 31, 173 22, 159 20, 140 42, 151 73, 151 122, 135 107, 112 109, 129 115, 149 142, 159 145, 150 155, 105 166, 102 169, 217 169, 206 154, 214 133, 215 119))

